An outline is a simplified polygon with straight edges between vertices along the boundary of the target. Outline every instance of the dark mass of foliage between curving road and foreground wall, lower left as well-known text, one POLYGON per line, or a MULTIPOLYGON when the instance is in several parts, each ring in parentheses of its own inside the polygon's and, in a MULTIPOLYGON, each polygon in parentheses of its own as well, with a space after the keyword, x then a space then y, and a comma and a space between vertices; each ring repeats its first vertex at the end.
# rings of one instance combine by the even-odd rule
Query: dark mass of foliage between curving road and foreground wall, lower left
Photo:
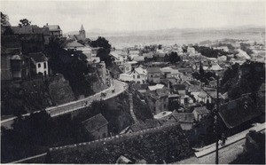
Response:
POLYGON ((1 130, 1 161, 17 161, 25 157, 44 153, 49 147, 70 145, 88 141, 90 135, 81 130, 79 122, 70 116, 51 119, 45 111, 18 117, 12 130, 1 130))

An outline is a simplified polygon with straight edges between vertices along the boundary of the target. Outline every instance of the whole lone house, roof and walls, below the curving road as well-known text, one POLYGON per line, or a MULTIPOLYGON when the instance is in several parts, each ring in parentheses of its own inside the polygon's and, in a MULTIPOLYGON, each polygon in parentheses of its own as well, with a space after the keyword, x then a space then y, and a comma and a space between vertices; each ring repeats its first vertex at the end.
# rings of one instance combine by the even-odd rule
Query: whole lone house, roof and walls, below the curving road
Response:
POLYGON ((108 137, 108 122, 102 114, 90 117, 82 125, 95 139, 108 137))

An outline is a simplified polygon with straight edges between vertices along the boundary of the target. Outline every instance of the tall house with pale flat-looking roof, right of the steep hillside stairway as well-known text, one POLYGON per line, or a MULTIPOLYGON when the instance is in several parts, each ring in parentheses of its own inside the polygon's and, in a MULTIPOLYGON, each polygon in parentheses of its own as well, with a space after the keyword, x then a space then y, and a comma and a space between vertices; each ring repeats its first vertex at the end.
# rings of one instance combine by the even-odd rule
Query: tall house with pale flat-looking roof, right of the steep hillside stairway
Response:
POLYGON ((164 87, 162 84, 148 87, 147 101, 153 114, 168 111, 168 94, 168 88, 164 87))

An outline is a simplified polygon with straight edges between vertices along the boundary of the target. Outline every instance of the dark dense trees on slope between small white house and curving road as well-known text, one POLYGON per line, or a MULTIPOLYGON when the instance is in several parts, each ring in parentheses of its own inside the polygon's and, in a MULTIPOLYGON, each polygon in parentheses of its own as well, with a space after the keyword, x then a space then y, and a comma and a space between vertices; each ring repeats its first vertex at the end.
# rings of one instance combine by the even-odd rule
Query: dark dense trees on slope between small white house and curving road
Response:
POLYGON ((46 49, 50 67, 53 74, 62 74, 69 81, 74 96, 90 96, 93 94, 91 84, 95 81, 93 77, 88 77, 90 68, 87 67, 86 57, 80 51, 65 51, 59 46, 59 42, 51 42, 46 49), (74 54, 74 55, 72 55, 74 54))

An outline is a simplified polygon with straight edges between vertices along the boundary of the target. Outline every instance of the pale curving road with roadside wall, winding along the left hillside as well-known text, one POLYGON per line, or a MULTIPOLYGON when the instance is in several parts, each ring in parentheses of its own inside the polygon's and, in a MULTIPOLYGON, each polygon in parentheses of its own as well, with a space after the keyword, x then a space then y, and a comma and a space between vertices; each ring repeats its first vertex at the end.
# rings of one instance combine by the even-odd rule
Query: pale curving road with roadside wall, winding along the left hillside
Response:
MULTIPOLYGON (((127 88, 128 88, 127 83, 122 83, 118 80, 114 80, 113 85, 111 87, 109 87, 106 90, 102 90, 93 96, 90 96, 88 98, 82 98, 77 101, 72 101, 64 105, 51 106, 51 107, 46 108, 45 110, 47 111, 48 114, 51 114, 51 117, 71 113, 73 111, 81 109, 82 107, 90 106, 93 100, 100 100, 100 99, 106 100, 108 98, 113 98, 121 94, 124 90, 127 90, 127 88), (114 89, 114 92, 112 92, 113 89, 114 89), (106 93, 106 97, 101 97, 102 92, 106 93)), ((35 113, 38 113, 38 112, 40 111, 36 111, 35 113)), ((30 115, 30 114, 23 114, 22 116, 27 116, 27 115, 30 115)), ((12 118, 1 121, 1 126, 4 126, 6 129, 11 129, 14 119, 16 119, 16 117, 12 117, 12 118)))

